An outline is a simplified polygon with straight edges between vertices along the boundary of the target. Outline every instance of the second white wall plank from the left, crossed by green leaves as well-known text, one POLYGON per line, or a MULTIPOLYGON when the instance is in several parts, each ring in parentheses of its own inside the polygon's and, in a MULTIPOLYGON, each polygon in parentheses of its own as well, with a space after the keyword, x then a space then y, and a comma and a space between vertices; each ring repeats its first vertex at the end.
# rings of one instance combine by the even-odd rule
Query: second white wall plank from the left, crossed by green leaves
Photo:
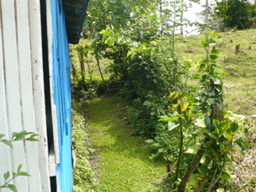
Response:
MULTIPOLYGON (((2 1, 2 19, 3 19, 3 55, 5 63, 6 77, 6 100, 8 110, 9 134, 16 131, 22 131, 22 117, 20 110, 20 79, 16 44, 15 27, 15 1, 2 1)), ((22 142, 13 143, 12 163, 13 171, 22 164, 26 171, 25 148, 22 142)), ((17 177, 14 183, 20 191, 28 190, 26 177, 17 177)))

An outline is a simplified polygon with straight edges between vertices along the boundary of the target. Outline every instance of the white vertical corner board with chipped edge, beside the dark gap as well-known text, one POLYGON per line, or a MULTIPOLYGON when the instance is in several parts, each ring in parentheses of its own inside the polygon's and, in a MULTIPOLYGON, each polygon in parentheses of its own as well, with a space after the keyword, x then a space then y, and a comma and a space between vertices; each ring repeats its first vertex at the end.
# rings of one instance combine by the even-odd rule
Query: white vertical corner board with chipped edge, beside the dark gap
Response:
POLYGON ((49 162, 48 162, 48 142, 46 133, 46 116, 44 104, 44 73, 42 59, 42 36, 40 1, 29 0, 30 13, 30 38, 32 49, 32 82, 34 96, 35 120, 40 141, 38 142, 38 163, 41 175, 42 192, 50 191, 49 183, 49 162))

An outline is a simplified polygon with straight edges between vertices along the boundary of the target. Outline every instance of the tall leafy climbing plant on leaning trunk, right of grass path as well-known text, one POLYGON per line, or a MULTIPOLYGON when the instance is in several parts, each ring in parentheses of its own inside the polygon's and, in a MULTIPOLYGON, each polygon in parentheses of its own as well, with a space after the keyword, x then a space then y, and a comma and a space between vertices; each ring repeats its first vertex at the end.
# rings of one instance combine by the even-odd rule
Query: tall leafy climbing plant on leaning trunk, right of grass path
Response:
POLYGON ((202 129, 204 139, 201 140, 201 147, 183 175, 178 192, 186 189, 195 169, 198 172, 196 191, 211 191, 223 176, 226 163, 231 160, 235 145, 241 150, 245 149, 243 140, 236 138, 238 131, 243 131, 243 126, 238 125, 237 119, 230 118, 230 115, 223 111, 223 79, 216 71, 218 50, 214 47, 210 50, 211 44, 215 43, 213 37, 218 34, 207 33, 206 41, 201 42, 206 50, 206 59, 198 64, 201 73, 194 76, 199 79, 201 87, 197 97, 197 108, 204 113, 205 128, 202 129), (202 162, 203 157, 206 159, 202 162))

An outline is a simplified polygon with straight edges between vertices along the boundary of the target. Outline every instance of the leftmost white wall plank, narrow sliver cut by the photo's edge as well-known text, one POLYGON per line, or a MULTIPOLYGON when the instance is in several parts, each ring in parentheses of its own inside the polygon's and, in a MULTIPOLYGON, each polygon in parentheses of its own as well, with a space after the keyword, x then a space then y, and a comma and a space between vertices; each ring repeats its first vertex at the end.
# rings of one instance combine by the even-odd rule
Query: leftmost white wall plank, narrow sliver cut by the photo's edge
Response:
MULTIPOLYGON (((0 2, 0 13, 2 13, 0 2)), ((5 92, 5 77, 4 77, 4 63, 3 63, 3 36, 2 36, 2 15, 0 14, 0 132, 9 137, 7 108, 6 108, 6 92, 5 92)), ((0 143, 0 185, 3 184, 3 173, 12 171, 10 149, 8 146, 0 143)), ((0 192, 7 192, 9 189, 0 189, 0 192)))

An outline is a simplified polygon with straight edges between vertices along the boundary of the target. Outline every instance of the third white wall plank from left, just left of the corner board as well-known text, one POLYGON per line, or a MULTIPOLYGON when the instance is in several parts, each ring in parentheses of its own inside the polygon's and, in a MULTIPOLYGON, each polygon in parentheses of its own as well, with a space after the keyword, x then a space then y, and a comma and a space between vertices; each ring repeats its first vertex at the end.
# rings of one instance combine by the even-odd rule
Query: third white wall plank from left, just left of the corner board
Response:
MULTIPOLYGON (((17 38, 20 68, 20 97, 23 128, 25 131, 37 132, 32 96, 32 61, 29 34, 28 1, 16 0, 17 38)), ((40 191, 41 180, 38 166, 38 143, 26 142, 26 162, 28 192, 40 191)))

